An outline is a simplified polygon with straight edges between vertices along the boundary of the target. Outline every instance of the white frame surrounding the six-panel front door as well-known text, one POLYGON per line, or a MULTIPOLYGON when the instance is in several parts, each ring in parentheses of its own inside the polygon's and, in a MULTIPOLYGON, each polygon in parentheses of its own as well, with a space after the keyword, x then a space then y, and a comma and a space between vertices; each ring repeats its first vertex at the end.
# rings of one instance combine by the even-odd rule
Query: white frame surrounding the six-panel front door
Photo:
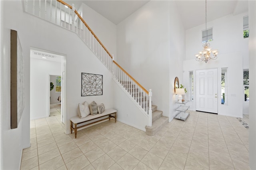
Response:
MULTIPOLYGON (((212 114, 218 114, 218 111, 219 111, 219 67, 213 67, 213 68, 205 68, 205 69, 196 69, 193 71, 193 74, 194 74, 194 87, 196 87, 197 85, 197 81, 196 81, 196 71, 200 71, 200 70, 208 70, 208 69, 216 69, 217 70, 217 75, 216 75, 216 81, 217 81, 217 113, 212 113, 212 114)), ((197 97, 197 91, 196 91, 196 88, 194 88, 194 101, 195 101, 195 105, 194 105, 194 109, 196 111, 196 97, 197 97)), ((200 111, 200 112, 204 112, 204 111, 200 111)), ((210 113, 210 112, 206 112, 206 113, 210 113)))

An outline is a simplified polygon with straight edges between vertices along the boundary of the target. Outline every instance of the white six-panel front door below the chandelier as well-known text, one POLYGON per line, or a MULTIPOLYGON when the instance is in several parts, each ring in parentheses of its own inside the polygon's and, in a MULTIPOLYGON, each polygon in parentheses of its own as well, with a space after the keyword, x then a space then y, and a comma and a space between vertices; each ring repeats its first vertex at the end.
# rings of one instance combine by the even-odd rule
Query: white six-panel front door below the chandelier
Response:
POLYGON ((218 69, 196 71, 196 111, 218 113, 218 69))

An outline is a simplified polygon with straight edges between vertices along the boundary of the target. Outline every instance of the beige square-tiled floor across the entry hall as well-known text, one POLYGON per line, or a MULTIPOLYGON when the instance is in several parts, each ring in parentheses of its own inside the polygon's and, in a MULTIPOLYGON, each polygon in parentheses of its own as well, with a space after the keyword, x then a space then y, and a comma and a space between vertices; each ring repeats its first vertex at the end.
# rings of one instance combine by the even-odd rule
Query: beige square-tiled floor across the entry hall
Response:
POLYGON ((247 170, 249 131, 234 117, 192 111, 155 136, 114 120, 64 134, 60 116, 30 121, 21 169, 247 170))

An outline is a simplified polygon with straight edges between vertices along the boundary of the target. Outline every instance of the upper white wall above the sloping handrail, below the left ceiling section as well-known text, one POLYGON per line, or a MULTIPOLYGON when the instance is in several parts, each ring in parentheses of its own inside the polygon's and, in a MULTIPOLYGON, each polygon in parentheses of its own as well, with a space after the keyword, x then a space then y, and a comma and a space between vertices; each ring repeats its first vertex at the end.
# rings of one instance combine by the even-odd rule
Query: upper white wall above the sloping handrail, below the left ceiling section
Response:
POLYGON ((116 25, 86 4, 82 3, 79 9, 81 8, 82 18, 86 24, 88 24, 88 26, 92 29, 94 34, 99 38, 100 42, 103 43, 108 52, 116 56, 116 25))

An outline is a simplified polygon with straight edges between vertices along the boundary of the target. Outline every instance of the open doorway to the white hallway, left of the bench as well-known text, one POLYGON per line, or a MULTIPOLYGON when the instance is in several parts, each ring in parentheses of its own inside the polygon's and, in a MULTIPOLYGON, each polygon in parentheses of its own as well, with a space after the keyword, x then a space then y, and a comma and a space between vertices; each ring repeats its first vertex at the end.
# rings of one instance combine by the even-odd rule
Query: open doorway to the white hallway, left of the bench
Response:
POLYGON ((66 56, 34 47, 30 49, 30 120, 50 116, 50 75, 54 75, 52 92, 58 96, 51 97, 51 103, 59 103, 54 109, 60 112, 60 122, 65 123, 65 71, 66 56), (56 81, 60 83, 56 85, 56 81), (56 86, 61 86, 61 92, 56 92, 56 86))

